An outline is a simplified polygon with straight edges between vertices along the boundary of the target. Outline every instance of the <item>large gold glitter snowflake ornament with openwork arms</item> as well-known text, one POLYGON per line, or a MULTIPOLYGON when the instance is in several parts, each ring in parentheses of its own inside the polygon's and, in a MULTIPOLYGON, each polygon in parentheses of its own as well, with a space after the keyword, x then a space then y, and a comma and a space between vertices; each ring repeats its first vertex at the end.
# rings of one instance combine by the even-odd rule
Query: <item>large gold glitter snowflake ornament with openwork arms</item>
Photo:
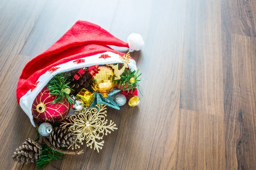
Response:
POLYGON ((108 124, 106 105, 96 105, 96 108, 83 108, 81 111, 75 112, 69 118, 61 122, 61 126, 69 127, 70 131, 77 135, 77 140, 71 144, 72 149, 80 148, 76 142, 83 144, 86 140, 87 147, 97 150, 102 149, 104 144, 103 136, 111 133, 111 130, 117 129, 116 124, 112 120, 108 124), (102 140, 102 141, 100 141, 102 140))

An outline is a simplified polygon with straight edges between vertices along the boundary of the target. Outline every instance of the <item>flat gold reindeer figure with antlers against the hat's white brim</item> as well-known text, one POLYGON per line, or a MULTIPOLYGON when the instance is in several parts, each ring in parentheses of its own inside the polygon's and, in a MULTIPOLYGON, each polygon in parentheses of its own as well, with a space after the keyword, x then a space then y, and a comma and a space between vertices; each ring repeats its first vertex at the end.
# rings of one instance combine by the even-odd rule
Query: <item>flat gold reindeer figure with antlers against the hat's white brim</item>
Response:
POLYGON ((130 63, 130 59, 131 59, 130 53, 128 52, 126 55, 120 56, 120 59, 122 62, 124 62, 124 65, 122 66, 122 68, 120 70, 118 69, 119 63, 117 63, 116 65, 107 64, 108 66, 110 66, 114 69, 115 80, 121 79, 120 75, 123 74, 123 72, 125 71, 125 68, 128 68, 128 63, 130 63))

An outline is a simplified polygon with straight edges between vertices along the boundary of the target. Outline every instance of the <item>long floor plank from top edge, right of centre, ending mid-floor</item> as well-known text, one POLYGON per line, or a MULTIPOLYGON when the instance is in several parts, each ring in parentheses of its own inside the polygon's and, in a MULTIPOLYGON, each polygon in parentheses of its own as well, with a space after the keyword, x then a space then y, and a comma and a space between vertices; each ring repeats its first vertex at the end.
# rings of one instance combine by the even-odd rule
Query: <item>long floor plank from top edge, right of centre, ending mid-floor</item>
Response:
POLYGON ((180 108, 223 115, 220 3, 192 0, 186 10, 180 108))

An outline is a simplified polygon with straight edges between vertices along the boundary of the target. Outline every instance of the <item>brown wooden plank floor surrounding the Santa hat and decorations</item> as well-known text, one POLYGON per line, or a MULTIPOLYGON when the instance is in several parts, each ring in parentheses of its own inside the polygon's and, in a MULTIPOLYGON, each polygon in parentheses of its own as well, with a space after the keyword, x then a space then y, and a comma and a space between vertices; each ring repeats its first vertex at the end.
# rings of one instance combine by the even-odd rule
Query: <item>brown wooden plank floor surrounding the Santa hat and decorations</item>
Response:
MULTIPOLYGON (((35 129, 16 101, 25 64, 77 20, 126 40, 143 73, 136 108, 108 109, 118 130, 61 170, 255 170, 255 0, 0 0, 0 169, 35 129)), ((125 50, 123 48, 115 48, 125 50)), ((48 166, 47 169, 52 169, 48 166)))

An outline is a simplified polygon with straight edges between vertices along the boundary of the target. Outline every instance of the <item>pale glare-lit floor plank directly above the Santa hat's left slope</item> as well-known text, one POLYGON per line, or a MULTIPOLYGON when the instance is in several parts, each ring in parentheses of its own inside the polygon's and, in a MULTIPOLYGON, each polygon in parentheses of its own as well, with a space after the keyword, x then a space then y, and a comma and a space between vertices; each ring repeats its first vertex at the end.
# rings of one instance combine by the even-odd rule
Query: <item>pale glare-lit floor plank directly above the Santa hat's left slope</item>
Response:
POLYGON ((73 0, 67 0, 66 3, 62 3, 62 0, 48 0, 20 54, 37 56, 56 42, 77 20, 100 24, 109 31, 117 0, 112 1, 108 10, 104 10, 108 5, 104 0, 97 3, 95 10, 92 6, 96 4, 89 0, 76 0, 76 3, 73 0))

